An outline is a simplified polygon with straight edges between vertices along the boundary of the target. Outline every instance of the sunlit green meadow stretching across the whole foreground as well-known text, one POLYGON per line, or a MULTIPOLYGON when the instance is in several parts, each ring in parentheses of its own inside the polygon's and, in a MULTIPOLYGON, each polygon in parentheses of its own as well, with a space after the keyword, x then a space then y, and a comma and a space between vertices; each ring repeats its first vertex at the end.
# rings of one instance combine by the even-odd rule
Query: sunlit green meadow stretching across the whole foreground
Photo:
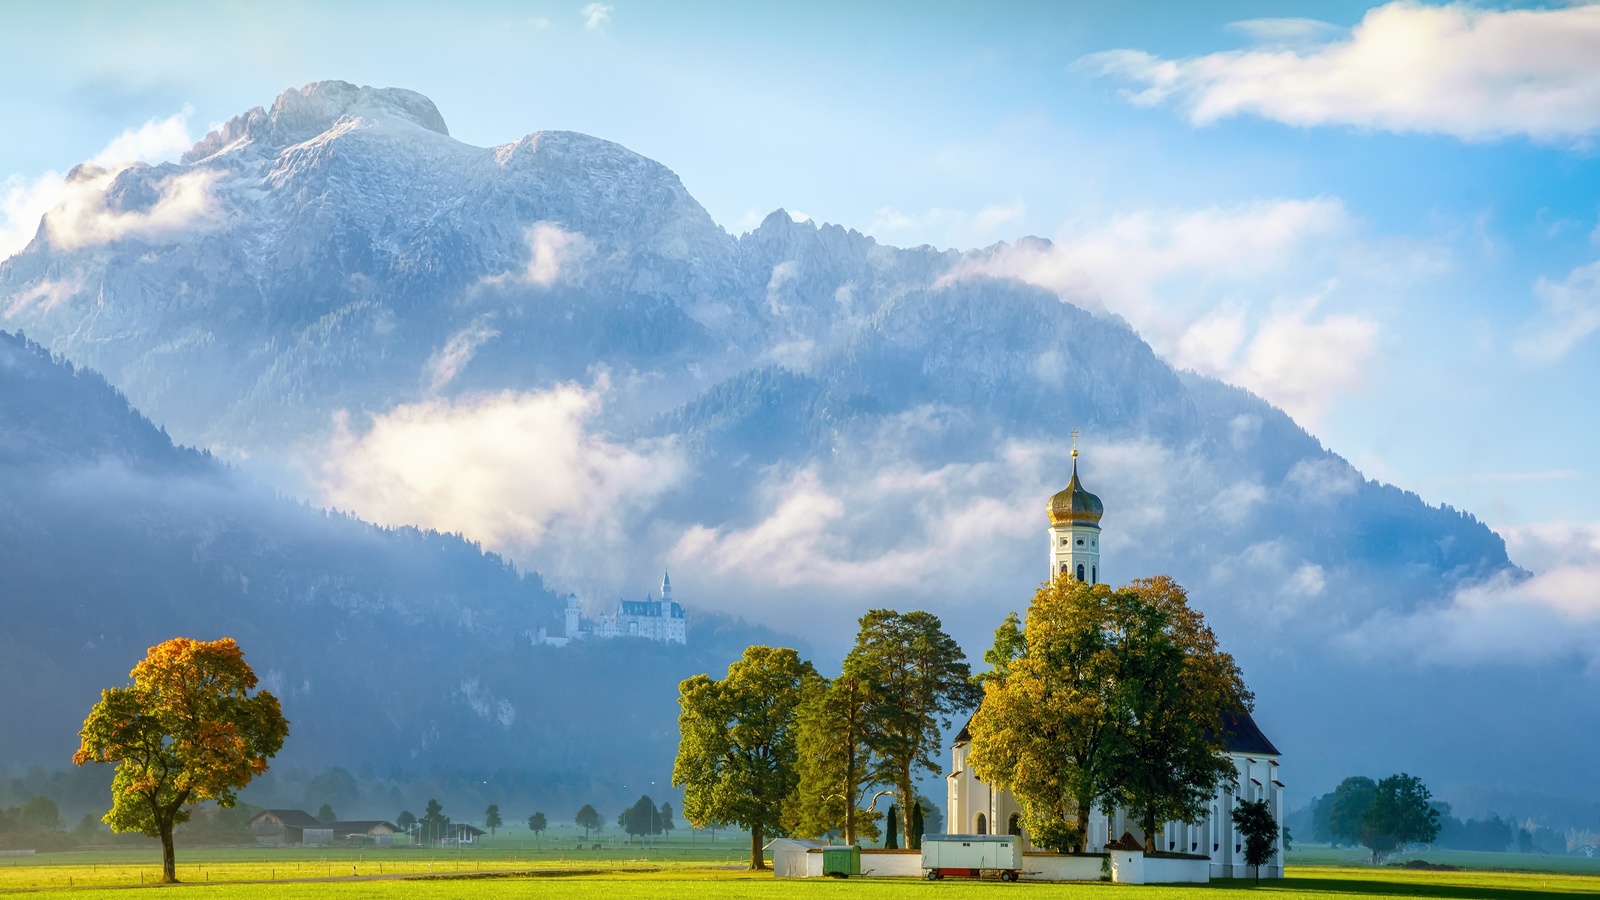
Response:
MULTIPOLYGON (((178 876, 192 900, 405 898, 405 900, 968 900, 1021 890, 1051 898, 1098 900, 1107 890, 1131 890, 1144 900, 1352 900, 1355 897, 1421 897, 1432 900, 1531 900, 1565 897, 1600 900, 1600 860, 1523 854, 1427 852, 1430 863, 1459 871, 1370 866, 1358 850, 1301 847, 1291 854, 1288 878, 1218 881, 1210 886, 1130 887, 1109 884, 998 884, 917 879, 776 881, 744 870, 742 834, 707 834, 626 844, 600 839, 603 849, 578 850, 578 836, 534 841, 502 833, 477 847, 179 847, 178 876), (1542 871, 1533 871, 1542 866, 1542 871), (1518 871, 1520 870, 1520 871, 1518 871)), ((592 847, 586 842, 584 847, 592 847)), ((157 887, 157 849, 74 850, 0 858, 0 894, 26 897, 122 897, 130 889, 157 887)))

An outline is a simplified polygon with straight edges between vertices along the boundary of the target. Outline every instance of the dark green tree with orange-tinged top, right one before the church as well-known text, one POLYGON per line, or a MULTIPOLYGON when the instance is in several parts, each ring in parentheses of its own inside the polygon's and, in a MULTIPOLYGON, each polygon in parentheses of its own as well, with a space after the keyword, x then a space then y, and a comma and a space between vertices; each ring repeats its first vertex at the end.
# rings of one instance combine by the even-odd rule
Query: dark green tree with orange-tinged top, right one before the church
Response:
POLYGON ((1235 775, 1218 725, 1248 711, 1251 693, 1170 577, 1118 589, 1109 613, 1117 658, 1110 796, 1147 836, 1166 822, 1198 822, 1218 783, 1235 775))

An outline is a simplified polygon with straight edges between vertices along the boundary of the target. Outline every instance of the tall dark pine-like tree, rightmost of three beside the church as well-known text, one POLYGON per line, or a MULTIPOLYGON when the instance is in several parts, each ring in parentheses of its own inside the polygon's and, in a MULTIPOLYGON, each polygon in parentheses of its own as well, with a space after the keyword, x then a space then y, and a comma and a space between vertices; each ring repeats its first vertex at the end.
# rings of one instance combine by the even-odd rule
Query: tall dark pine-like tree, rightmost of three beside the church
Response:
POLYGON ((982 689, 973 684, 966 655, 939 617, 920 610, 861 617, 846 665, 856 666, 870 693, 866 743, 874 756, 867 780, 894 788, 899 831, 909 833, 917 775, 939 772, 941 727, 978 706, 982 689))

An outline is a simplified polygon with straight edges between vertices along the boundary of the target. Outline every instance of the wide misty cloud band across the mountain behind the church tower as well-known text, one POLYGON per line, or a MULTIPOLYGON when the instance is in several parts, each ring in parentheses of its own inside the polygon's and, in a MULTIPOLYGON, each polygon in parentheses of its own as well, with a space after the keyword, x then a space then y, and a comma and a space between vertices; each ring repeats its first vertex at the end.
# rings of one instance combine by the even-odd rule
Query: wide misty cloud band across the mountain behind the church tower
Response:
MULTIPOLYGON (((984 456, 942 464, 901 450, 938 439, 941 415, 896 416, 867 440, 840 442, 832 460, 768 472, 752 516, 678 533, 672 570, 742 615, 781 623, 792 597, 837 617, 917 604, 981 641, 1048 577, 1045 503, 1067 482, 1070 445, 1002 439, 984 456)), ((1082 461, 1107 509, 1109 581, 1173 573, 1251 629, 1344 615, 1326 589, 1336 573, 1306 548, 1237 540, 1259 533, 1274 504, 1318 509, 1354 490, 1358 476, 1341 461, 1307 461, 1280 484, 1219 479, 1197 450, 1150 439, 1096 440, 1082 461)))

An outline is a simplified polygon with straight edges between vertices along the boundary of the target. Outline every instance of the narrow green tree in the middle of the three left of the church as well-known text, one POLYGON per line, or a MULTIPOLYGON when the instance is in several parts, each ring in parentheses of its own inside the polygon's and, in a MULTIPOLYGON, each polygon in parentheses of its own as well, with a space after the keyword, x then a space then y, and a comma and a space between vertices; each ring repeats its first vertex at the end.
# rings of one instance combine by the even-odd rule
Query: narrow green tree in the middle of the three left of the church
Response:
POLYGON ((878 838, 882 814, 867 806, 872 748, 867 727, 874 695, 861 665, 846 658, 832 682, 808 682, 798 711, 800 785, 786 809, 790 834, 843 833, 845 844, 878 838))

